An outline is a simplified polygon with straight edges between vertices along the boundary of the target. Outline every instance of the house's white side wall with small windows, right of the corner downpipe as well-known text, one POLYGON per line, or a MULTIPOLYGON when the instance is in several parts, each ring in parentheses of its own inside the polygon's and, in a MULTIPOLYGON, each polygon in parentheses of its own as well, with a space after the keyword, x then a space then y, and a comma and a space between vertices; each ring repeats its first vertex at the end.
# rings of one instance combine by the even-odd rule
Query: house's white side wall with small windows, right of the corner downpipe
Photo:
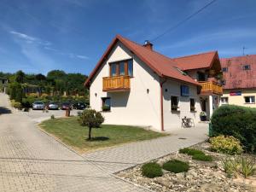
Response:
POLYGON ((168 80, 163 84, 163 96, 164 127, 166 131, 181 129, 182 119, 184 116, 194 119, 195 124, 200 121, 201 104, 200 96, 197 95, 196 86, 168 80), (181 96, 181 85, 189 86, 189 96, 181 96), (178 96, 179 98, 178 112, 172 112, 171 110, 171 96, 178 96), (195 99, 195 112, 190 111, 190 98, 195 99))

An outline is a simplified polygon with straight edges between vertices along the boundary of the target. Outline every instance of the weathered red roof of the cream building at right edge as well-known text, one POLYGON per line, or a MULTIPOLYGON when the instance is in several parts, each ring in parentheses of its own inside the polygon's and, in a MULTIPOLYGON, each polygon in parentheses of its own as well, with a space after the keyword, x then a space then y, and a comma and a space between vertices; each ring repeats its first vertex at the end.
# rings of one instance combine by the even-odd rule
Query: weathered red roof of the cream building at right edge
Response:
POLYGON ((221 67, 228 67, 228 72, 224 72, 224 90, 256 88, 256 55, 224 58, 220 63, 221 67), (251 69, 243 70, 244 65, 250 65, 251 69))

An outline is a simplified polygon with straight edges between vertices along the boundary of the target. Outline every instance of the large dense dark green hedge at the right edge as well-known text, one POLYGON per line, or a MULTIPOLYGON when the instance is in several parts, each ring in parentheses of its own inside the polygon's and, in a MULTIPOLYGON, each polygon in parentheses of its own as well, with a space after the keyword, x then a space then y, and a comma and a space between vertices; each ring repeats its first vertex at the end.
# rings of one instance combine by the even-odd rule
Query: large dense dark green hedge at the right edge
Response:
POLYGON ((225 105, 212 114, 212 136, 233 136, 247 152, 256 152, 256 109, 225 105))

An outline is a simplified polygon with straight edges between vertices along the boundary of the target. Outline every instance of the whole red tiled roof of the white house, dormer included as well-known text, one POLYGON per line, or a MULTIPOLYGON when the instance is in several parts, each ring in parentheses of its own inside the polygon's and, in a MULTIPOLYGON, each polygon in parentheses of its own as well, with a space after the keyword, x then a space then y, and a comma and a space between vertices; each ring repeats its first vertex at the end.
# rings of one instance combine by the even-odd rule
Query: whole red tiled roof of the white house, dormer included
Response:
POLYGON ((94 68, 92 73, 90 73, 90 76, 88 77, 84 85, 88 86, 90 84, 90 80, 94 77, 97 70, 101 67, 103 61, 107 59, 107 56, 110 53, 111 49, 113 49, 113 46, 118 41, 124 44, 127 49, 130 49, 132 53, 137 55, 137 57, 140 60, 145 62, 148 65, 148 67, 154 70, 154 72, 157 73, 160 77, 177 79, 177 80, 180 80, 189 84, 195 84, 195 85, 200 85, 200 84, 196 82, 195 79, 190 78, 185 73, 181 73, 180 70, 211 67, 213 60, 216 58, 216 55, 218 57, 218 52, 216 51, 206 53, 206 54, 201 54, 201 55, 200 54, 191 55, 189 57, 191 57, 190 60, 193 60, 193 61, 190 61, 190 64, 189 64, 189 59, 182 59, 182 57, 172 59, 165 55, 161 55, 160 53, 152 49, 148 49, 141 44, 137 44, 127 38, 117 35, 115 38, 113 38, 112 43, 109 44, 108 49, 102 55, 102 58, 100 59, 100 61, 98 61, 98 63, 96 64, 96 67, 94 68), (203 60, 203 62, 199 62, 199 65, 196 66, 195 62, 201 61, 201 60, 203 60), (193 66, 189 67, 192 64, 193 66))

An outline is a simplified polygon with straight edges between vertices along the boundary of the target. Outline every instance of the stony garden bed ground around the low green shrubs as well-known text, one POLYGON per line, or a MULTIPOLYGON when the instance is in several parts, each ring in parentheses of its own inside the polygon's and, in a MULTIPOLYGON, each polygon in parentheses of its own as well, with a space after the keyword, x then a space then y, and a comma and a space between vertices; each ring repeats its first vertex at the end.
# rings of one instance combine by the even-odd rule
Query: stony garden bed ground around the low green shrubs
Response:
POLYGON ((227 154, 211 152, 207 150, 209 147, 209 143, 200 143, 193 148, 201 149, 204 154, 211 155, 213 161, 193 160, 192 155, 178 152, 154 160, 160 166, 163 166, 169 160, 188 162, 188 172, 174 173, 163 170, 163 176, 148 178, 143 177, 141 171, 143 165, 139 165, 119 172, 117 175, 154 191, 256 191, 255 176, 248 177, 247 179, 241 176, 236 178, 227 177, 223 166, 223 160, 227 157, 227 154))

